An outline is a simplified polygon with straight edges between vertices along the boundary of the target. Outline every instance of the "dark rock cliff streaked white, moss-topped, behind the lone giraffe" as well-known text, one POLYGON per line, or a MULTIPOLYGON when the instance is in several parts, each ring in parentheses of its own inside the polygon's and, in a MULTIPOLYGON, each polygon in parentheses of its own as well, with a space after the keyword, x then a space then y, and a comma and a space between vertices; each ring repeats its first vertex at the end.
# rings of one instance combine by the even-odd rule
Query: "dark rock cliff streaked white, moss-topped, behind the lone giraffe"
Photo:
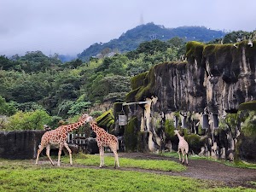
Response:
POLYGON ((148 131, 149 150, 173 143, 166 120, 175 120, 177 128, 187 125, 183 131, 188 139, 195 134, 201 154, 234 158, 240 122, 225 124, 223 119, 237 113, 242 102, 256 100, 256 42, 253 45, 189 42, 186 62, 162 63, 131 80, 126 102, 150 100, 140 121, 148 131))

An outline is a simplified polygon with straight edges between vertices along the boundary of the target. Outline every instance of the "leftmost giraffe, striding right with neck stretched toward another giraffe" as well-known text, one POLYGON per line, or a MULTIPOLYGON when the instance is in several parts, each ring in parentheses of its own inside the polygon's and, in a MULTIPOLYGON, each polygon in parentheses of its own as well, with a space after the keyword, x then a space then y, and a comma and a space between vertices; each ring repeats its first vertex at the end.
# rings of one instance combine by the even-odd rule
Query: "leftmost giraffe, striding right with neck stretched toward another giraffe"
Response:
POLYGON ((90 118, 89 115, 84 113, 79 118, 79 122, 77 122, 77 123, 70 124, 70 125, 61 125, 55 130, 46 131, 41 138, 41 143, 38 146, 38 155, 37 155, 36 165, 38 165, 39 154, 46 147, 46 155, 47 155, 50 163, 54 166, 54 163, 49 156, 49 150, 50 150, 50 145, 57 145, 57 146, 59 146, 57 166, 60 166, 61 150, 62 150, 63 146, 65 148, 67 148, 67 151, 69 153, 69 158, 70 158, 70 165, 72 166, 73 165, 72 151, 70 148, 68 148, 68 145, 67 145, 67 133, 78 129, 79 126, 81 126, 81 125, 84 125, 88 121, 89 118, 90 118))

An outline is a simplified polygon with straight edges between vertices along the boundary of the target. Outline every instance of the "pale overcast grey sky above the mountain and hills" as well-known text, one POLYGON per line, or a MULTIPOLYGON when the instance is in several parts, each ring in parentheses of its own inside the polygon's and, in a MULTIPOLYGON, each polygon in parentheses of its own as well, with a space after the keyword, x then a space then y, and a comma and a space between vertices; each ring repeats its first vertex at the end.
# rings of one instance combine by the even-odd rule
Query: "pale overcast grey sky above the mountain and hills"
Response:
POLYGON ((255 0, 0 0, 0 55, 77 55, 136 26, 252 32, 255 0))

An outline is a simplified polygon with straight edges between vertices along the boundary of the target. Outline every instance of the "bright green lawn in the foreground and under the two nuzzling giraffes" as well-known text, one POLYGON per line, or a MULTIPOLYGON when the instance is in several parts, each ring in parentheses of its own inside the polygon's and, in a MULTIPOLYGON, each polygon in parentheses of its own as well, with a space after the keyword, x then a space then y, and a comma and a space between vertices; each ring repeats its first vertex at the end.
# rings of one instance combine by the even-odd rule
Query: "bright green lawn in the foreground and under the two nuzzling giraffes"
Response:
MULTIPOLYGON (((53 159, 56 160, 56 157, 53 159)), ((112 156, 106 157, 105 161, 107 166, 113 166, 112 156)), ((221 183, 189 177, 64 166, 64 162, 69 162, 67 156, 61 157, 61 167, 51 166, 50 163, 36 166, 35 160, 0 159, 0 191, 253 191, 241 187, 229 189, 221 183)), ((73 155, 73 164, 99 166, 99 156, 73 155)), ((168 170, 166 166, 176 166, 176 163, 168 165, 165 160, 125 158, 120 158, 120 164, 122 167, 135 164, 132 167, 143 169, 156 169, 155 165, 158 165, 162 170, 168 170)))

